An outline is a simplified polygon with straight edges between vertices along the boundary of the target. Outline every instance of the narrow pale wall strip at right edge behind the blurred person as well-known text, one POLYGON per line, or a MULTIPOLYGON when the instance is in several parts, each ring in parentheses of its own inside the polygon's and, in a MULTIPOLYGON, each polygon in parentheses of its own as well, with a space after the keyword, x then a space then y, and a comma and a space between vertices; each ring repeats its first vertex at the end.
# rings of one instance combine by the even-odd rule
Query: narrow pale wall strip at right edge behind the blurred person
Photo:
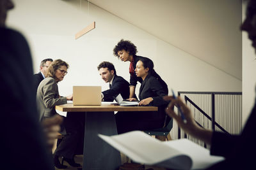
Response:
MULTIPOLYGON (((243 20, 246 13, 246 3, 243 3, 243 20)), ((252 47, 252 41, 248 39, 248 34, 243 32, 243 124, 255 102, 255 82, 256 82, 256 55, 252 47)))

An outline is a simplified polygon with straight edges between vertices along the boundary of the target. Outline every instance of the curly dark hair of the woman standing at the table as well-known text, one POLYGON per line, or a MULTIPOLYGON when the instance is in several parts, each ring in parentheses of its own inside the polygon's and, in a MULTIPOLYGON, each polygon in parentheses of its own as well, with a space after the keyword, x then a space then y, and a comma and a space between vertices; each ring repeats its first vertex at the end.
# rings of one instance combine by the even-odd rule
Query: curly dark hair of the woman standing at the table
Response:
POLYGON ((119 51, 125 50, 126 52, 129 52, 129 55, 136 55, 136 53, 138 52, 137 47, 129 40, 124 40, 121 39, 117 45, 115 46, 115 48, 113 49, 113 54, 118 57, 118 53, 119 51))

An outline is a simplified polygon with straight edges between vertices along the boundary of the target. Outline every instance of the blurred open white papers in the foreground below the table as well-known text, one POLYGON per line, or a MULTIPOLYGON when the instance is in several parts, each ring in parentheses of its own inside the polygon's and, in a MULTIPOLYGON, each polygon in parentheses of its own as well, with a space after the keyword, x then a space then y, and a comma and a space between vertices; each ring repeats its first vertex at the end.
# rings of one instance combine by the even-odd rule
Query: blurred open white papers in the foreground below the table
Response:
POLYGON ((210 155, 209 150, 188 139, 159 141, 141 131, 115 136, 99 134, 99 137, 141 164, 170 169, 205 169, 224 160, 210 155))

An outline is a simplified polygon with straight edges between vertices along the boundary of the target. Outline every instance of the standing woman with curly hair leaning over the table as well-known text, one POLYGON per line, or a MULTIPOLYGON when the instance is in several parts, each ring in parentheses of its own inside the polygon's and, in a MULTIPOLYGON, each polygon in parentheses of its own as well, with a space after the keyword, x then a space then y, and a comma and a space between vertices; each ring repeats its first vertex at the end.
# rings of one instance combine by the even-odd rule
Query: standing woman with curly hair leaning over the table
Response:
MULTIPOLYGON (((121 59, 124 62, 129 61, 130 67, 129 67, 129 73, 130 73, 130 96, 129 98, 136 97, 135 95, 135 87, 137 85, 137 81, 142 83, 142 78, 136 76, 135 69, 136 69, 136 63, 138 60, 147 58, 147 57, 141 57, 136 55, 138 52, 137 47, 131 43, 129 40, 121 39, 118 44, 113 49, 113 54, 118 57, 118 59, 121 59)), ((152 73, 152 76, 156 77, 159 83, 161 83, 164 91, 168 94, 168 87, 166 83, 162 80, 162 78, 159 76, 159 74, 154 71, 152 73)))

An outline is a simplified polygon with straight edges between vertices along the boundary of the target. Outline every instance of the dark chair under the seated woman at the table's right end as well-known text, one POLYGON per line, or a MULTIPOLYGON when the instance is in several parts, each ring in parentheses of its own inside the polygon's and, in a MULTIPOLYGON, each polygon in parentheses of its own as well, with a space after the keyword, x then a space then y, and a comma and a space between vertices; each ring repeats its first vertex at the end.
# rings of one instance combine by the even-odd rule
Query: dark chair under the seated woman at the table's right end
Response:
POLYGON ((156 136, 157 139, 161 141, 167 141, 172 140, 170 136, 170 131, 172 130, 173 126, 173 118, 168 117, 166 115, 165 121, 164 121, 164 127, 159 129, 153 129, 151 131, 144 131, 145 133, 149 134, 150 136, 156 136))

